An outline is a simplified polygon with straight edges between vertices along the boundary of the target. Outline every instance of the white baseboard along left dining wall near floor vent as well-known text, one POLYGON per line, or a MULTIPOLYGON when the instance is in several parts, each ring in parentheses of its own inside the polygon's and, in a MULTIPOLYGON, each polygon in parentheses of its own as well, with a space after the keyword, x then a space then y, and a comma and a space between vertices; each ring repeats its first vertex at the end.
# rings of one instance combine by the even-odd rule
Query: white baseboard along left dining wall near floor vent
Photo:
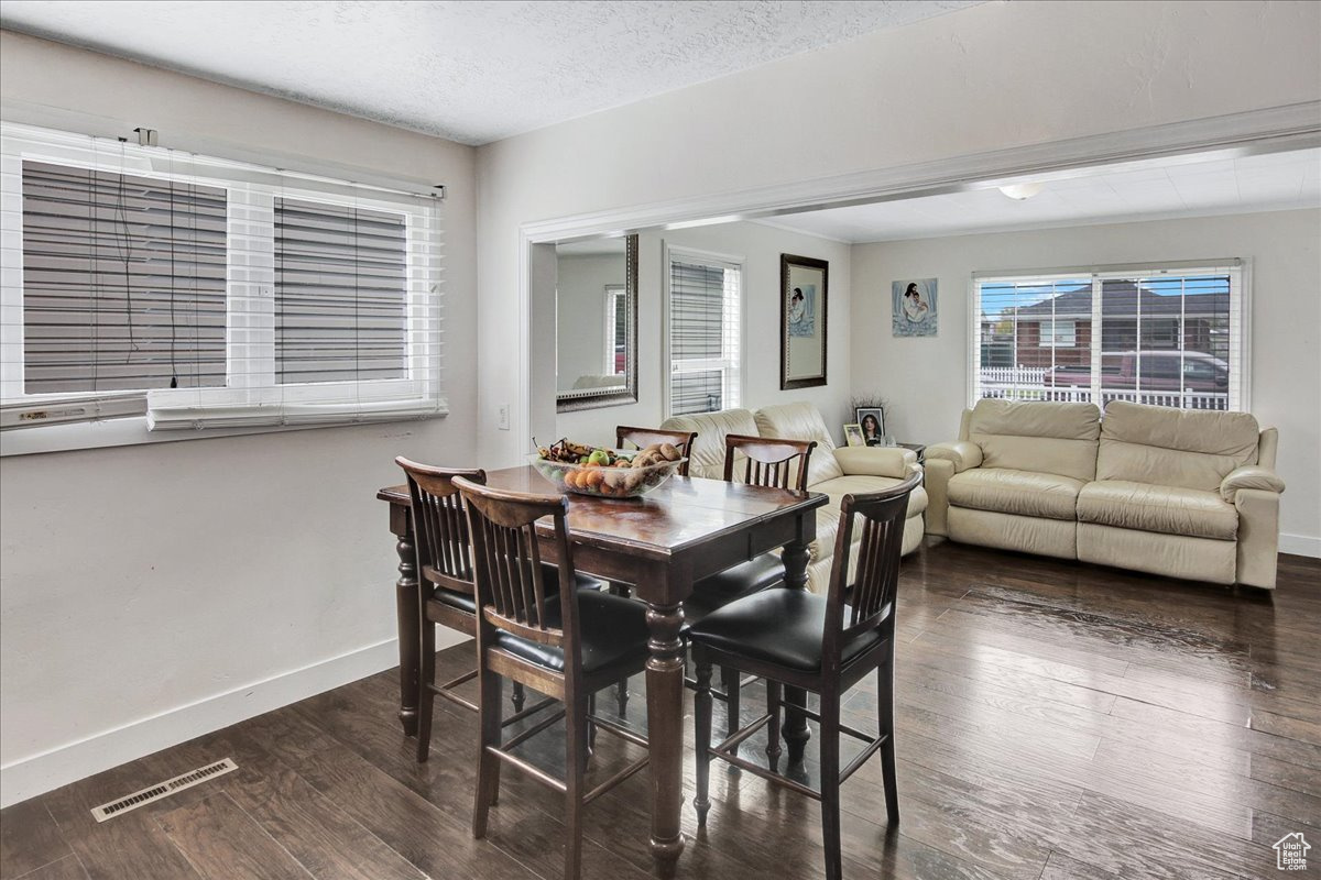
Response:
MULTIPOLYGON (((461 640, 458 633, 440 631, 437 649, 461 640)), ((374 676, 398 664, 398 639, 390 639, 12 761, 0 767, 0 807, 374 676)))

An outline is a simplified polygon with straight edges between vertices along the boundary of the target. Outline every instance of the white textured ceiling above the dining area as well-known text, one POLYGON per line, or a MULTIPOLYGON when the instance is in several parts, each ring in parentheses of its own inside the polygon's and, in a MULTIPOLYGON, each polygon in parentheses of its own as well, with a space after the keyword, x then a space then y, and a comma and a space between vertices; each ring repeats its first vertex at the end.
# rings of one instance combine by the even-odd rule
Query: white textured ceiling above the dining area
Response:
POLYGON ((980 0, 4 0, 0 26, 464 144, 980 0))

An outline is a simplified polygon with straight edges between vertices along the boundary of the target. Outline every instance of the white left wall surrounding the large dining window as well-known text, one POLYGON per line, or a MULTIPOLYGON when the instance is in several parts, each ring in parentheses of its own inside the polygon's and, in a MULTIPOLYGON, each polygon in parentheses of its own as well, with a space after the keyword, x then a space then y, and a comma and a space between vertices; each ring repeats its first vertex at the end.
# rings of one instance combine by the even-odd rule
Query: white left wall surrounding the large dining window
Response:
POLYGON ((0 65, 15 121, 449 187, 446 420, 0 459, 9 803, 392 665, 374 493, 395 455, 472 456, 477 356, 470 148, 8 32, 0 65))

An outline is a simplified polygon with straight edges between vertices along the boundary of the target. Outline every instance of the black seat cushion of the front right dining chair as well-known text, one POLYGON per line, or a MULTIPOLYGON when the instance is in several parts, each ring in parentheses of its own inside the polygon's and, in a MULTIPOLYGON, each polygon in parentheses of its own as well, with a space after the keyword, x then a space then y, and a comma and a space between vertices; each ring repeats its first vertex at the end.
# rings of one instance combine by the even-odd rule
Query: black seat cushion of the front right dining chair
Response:
MULTIPOLYGON (((890 607, 885 613, 890 613, 890 607)), ((844 611, 848 617, 848 610, 844 611)), ((814 672, 822 666, 826 596, 802 590, 766 590, 711 612, 694 624, 688 639, 699 645, 750 660, 814 672)), ((848 662, 881 641, 876 631, 857 636, 843 652, 848 662)))

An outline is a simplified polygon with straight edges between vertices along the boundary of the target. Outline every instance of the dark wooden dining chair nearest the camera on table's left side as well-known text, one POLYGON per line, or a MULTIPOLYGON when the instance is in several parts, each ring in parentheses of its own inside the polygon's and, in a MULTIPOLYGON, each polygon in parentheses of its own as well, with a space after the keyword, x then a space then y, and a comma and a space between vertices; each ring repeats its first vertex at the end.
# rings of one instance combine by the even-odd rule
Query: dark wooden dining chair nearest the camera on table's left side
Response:
POLYGON ((590 590, 565 588, 575 581, 563 495, 526 495, 493 489, 456 478, 468 508, 476 557, 477 674, 480 682, 481 751, 473 836, 486 836, 486 818, 499 794, 501 764, 564 793, 564 876, 577 880, 583 854, 583 807, 647 765, 629 764, 592 790, 585 789, 588 727, 594 726, 647 747, 646 738, 590 712, 590 695, 639 673, 647 662, 646 608, 641 603, 590 590), (536 521, 551 517, 557 579, 546 577, 536 521), (551 602, 555 590, 559 602, 551 602), (564 703, 561 711, 502 743, 503 678, 520 682, 564 703), (565 720, 565 778, 557 780, 513 749, 565 720))

